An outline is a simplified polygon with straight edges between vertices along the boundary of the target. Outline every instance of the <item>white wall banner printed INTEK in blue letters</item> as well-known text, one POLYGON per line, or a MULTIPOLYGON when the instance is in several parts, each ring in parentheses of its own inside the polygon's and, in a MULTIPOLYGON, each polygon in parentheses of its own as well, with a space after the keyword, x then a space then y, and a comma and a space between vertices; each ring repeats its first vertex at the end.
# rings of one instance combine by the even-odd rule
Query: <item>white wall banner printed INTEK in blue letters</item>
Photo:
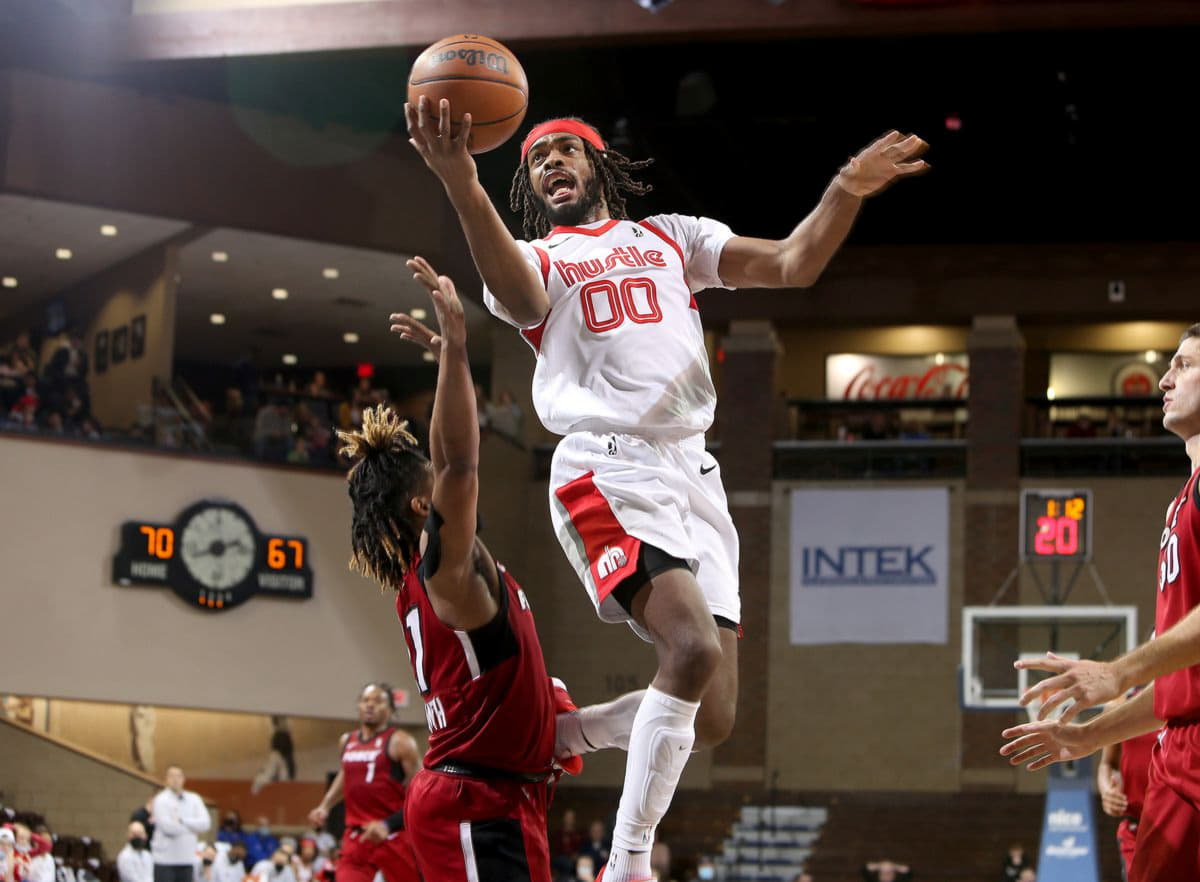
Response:
POLYGON ((792 492, 796 644, 946 643, 946 487, 792 492))

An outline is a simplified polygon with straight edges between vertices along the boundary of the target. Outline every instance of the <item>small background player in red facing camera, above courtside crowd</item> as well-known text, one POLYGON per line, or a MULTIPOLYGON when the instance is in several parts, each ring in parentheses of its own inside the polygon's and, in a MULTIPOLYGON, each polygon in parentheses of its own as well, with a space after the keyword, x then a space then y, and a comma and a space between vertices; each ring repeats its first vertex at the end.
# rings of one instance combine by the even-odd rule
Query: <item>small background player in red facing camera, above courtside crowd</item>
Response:
POLYGON ((342 768, 320 805, 308 812, 314 827, 346 799, 346 834, 337 862, 338 882, 420 882, 404 830, 406 782, 416 774, 416 742, 389 725, 396 709, 391 686, 368 683, 359 695, 359 727, 341 739, 342 768))

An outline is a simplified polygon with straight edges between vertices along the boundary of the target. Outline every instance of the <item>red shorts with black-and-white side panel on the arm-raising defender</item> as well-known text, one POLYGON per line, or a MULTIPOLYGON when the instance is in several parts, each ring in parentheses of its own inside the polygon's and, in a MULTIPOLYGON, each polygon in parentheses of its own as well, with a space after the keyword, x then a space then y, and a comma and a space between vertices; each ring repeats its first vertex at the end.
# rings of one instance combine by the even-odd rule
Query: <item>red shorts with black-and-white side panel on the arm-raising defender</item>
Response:
POLYGON ((547 805, 545 782, 421 769, 404 827, 426 882, 550 882, 547 805))

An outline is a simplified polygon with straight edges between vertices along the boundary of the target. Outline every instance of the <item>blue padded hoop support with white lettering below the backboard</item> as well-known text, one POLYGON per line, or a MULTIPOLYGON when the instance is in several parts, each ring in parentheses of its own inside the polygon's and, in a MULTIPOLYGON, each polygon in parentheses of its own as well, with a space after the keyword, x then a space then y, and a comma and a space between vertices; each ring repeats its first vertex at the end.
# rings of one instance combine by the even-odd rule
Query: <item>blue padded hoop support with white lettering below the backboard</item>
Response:
POLYGON ((1091 760, 1078 761, 1073 768, 1051 766, 1038 882, 1098 882, 1099 877, 1091 760))

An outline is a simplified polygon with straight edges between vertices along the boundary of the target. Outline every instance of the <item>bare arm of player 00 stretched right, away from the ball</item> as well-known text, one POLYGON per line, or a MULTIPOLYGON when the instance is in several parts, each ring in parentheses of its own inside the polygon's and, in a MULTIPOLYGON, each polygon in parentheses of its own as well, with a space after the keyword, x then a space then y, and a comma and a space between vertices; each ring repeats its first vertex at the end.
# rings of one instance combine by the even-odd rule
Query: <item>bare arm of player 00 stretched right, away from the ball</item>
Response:
POLYGON ((852 156, 817 206, 786 239, 734 236, 721 252, 721 281, 734 288, 806 288, 846 241, 863 199, 900 178, 922 174, 929 145, 916 134, 888 132, 852 156))

